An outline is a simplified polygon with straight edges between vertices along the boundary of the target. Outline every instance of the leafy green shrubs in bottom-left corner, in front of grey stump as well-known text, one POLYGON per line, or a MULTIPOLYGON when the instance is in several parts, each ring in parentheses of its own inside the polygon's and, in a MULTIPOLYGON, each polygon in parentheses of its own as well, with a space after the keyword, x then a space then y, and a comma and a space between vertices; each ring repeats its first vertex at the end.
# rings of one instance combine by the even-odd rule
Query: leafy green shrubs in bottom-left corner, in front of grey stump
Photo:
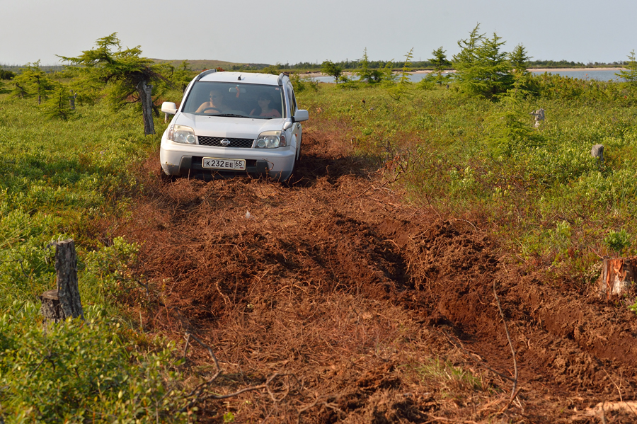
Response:
POLYGON ((147 351, 90 308, 43 328, 34 304, 0 317, 0 420, 6 423, 182 423, 172 343, 147 351))

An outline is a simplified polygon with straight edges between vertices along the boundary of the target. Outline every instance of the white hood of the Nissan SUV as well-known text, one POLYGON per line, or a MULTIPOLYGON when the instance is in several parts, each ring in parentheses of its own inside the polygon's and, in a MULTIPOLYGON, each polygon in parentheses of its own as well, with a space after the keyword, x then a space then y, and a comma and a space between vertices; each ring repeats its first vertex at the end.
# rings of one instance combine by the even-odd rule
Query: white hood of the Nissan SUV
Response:
POLYGON ((256 139, 263 131, 280 131, 284 122, 283 118, 263 120, 178 113, 172 123, 191 127, 197 135, 256 139))

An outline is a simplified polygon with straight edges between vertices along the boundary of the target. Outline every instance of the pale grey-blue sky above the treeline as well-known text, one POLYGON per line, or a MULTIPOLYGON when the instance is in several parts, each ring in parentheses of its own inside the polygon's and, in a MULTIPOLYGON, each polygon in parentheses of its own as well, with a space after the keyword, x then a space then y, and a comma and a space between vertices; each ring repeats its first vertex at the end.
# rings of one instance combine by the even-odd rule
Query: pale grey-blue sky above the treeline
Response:
POLYGON ((636 0, 1 0, 0 64, 59 64, 98 38, 154 59, 236 63, 449 59, 479 23, 535 60, 623 61, 636 0))

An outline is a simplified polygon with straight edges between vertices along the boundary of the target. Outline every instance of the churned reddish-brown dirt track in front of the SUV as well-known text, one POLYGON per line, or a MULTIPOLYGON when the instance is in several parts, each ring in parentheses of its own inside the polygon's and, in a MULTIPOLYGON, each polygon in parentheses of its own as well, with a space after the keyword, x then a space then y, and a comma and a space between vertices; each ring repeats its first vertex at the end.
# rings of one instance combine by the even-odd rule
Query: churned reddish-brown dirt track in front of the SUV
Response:
MULTIPOLYGON (((203 422, 637 422, 613 411, 636 397, 633 314, 510 265, 484 223, 406 205, 332 134, 305 134, 290 185, 166 182, 156 163, 104 229, 142 243, 144 326, 205 340, 215 393, 282 374, 200 401, 203 422)), ((188 357, 210 374, 204 349, 188 357)))

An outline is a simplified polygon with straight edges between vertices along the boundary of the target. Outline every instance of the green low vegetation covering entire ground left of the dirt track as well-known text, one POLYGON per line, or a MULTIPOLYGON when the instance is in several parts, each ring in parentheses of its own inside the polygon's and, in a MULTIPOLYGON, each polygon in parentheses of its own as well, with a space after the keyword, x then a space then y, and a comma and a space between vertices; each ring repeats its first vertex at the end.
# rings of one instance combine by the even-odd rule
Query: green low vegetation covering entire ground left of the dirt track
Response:
POLYGON ((0 420, 188 420, 176 413, 186 401, 175 346, 133 331, 117 302, 137 246, 91 231, 127 213, 140 189, 132 170, 159 136, 144 136, 132 108, 80 106, 59 121, 0 95, 0 110, 0 420), (45 328, 35 299, 55 287, 52 242, 67 238, 86 322, 45 328))

